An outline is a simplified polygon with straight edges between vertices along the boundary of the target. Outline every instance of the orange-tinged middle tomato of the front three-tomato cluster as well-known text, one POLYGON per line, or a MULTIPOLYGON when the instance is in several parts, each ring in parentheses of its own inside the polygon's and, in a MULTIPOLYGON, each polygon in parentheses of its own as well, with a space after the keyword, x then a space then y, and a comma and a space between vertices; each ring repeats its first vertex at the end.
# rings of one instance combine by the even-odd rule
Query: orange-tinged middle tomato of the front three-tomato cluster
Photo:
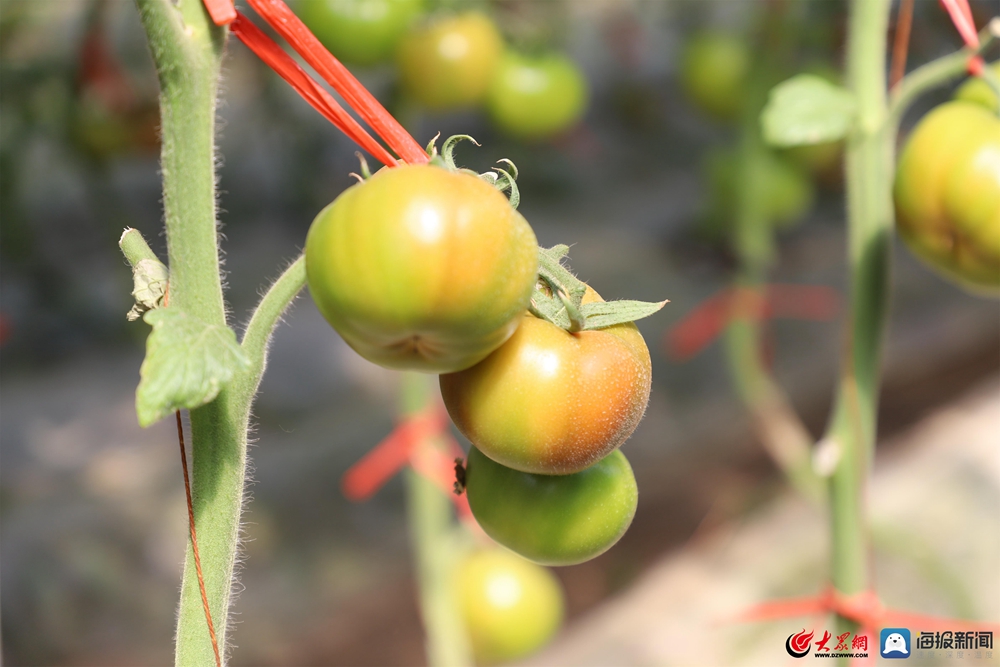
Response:
MULTIPOLYGON (((589 289, 584 303, 600 301, 589 289)), ((569 333, 532 315, 475 366, 441 376, 448 414, 494 461, 565 475, 632 435, 649 402, 649 350, 635 324, 569 333)))

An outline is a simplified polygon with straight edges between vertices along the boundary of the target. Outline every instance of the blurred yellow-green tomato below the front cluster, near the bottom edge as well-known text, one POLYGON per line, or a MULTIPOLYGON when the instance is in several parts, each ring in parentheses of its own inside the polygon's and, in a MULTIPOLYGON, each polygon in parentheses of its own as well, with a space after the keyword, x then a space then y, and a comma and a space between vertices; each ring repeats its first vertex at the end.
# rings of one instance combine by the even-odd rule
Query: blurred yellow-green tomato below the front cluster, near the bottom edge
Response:
POLYGON ((562 624, 563 592, 544 567, 484 549, 455 572, 459 608, 479 664, 507 662, 544 646, 562 624))

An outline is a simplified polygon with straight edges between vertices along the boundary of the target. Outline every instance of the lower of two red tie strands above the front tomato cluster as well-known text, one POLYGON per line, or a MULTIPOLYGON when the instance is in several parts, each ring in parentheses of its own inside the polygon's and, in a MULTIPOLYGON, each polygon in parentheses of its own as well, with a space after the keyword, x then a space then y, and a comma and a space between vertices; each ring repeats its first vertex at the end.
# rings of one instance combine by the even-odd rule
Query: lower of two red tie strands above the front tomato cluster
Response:
POLYGON ((382 144, 375 141, 330 93, 313 81, 291 56, 246 16, 237 12, 236 18, 230 23, 230 29, 241 42, 287 81, 306 102, 350 137, 354 143, 384 165, 391 167, 398 164, 396 158, 382 144))

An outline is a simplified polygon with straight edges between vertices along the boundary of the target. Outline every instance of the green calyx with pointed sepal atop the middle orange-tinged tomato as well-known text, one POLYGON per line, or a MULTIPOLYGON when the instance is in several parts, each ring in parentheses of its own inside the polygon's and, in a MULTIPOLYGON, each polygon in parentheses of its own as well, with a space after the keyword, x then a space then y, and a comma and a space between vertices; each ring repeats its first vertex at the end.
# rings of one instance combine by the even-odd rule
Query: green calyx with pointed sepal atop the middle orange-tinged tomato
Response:
POLYGON ((573 275, 562 260, 569 246, 538 249, 538 282, 528 311, 570 333, 605 329, 649 317, 669 303, 649 301, 596 301, 583 303, 587 284, 573 275))

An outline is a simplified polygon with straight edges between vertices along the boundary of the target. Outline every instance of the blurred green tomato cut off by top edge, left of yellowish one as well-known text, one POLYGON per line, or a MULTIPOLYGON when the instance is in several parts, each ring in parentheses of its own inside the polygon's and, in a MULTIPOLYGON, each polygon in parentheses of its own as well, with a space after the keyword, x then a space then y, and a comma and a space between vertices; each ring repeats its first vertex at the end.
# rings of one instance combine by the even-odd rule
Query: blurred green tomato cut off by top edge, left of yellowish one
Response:
POLYGON ((302 21, 345 63, 373 65, 391 58, 423 0, 299 0, 302 21))

